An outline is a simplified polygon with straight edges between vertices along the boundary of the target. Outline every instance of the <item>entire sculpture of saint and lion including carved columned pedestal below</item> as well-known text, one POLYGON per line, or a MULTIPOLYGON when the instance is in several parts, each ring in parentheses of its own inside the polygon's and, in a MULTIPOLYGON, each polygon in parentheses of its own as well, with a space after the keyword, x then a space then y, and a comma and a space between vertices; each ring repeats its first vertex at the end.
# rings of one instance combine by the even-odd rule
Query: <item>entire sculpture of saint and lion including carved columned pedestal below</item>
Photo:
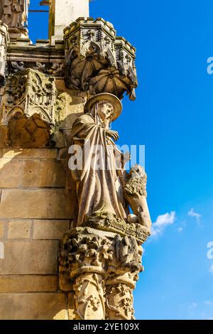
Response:
POLYGON ((79 208, 60 244, 59 264, 73 282, 76 320, 134 319, 133 289, 151 218, 146 173, 138 165, 127 173, 127 156, 114 143, 119 134, 111 122, 121 111, 116 96, 94 95, 72 126, 69 166, 79 208))

